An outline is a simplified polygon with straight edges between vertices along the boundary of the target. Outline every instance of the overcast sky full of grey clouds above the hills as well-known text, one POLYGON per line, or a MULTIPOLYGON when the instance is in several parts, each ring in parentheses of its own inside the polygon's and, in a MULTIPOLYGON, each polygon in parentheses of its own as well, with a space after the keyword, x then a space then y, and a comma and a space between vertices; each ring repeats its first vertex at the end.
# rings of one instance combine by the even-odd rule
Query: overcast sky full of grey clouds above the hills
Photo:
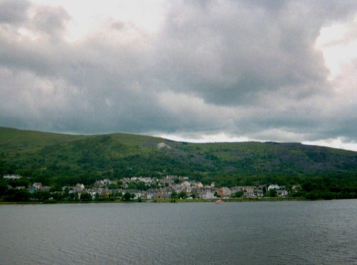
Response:
POLYGON ((357 1, 0 0, 0 126, 357 150, 357 1))

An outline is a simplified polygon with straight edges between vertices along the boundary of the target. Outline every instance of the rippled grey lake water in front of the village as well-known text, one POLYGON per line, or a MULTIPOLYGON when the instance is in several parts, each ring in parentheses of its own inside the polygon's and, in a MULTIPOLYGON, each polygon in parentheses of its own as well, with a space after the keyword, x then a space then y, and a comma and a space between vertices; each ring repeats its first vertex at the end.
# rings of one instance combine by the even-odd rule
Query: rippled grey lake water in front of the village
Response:
POLYGON ((357 264, 357 200, 0 206, 0 264, 357 264))

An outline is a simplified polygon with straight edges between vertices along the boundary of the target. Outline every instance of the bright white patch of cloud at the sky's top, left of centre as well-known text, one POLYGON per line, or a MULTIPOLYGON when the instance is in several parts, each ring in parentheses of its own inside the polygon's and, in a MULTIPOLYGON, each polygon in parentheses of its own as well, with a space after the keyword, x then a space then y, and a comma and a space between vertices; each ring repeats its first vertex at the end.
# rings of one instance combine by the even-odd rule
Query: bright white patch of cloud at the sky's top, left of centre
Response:
MULTIPOLYGON (((135 25, 145 31, 156 32, 164 17, 164 1, 96 1, 96 0, 31 0, 36 5, 64 6, 71 15, 67 25, 67 40, 80 41, 100 31, 108 21, 135 25)), ((109 32, 108 32, 109 33, 109 32)))

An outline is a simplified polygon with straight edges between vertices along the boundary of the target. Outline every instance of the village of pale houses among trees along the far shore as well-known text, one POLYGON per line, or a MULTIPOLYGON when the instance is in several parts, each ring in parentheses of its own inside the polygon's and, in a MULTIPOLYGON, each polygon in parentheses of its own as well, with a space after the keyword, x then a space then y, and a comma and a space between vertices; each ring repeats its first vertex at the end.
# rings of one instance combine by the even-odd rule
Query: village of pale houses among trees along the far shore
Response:
MULTIPOLYGON (((19 179, 19 175, 5 175, 5 180, 19 179)), ((78 183, 74 186, 62 187, 62 191, 53 191, 51 187, 40 182, 34 182, 30 187, 11 187, 13 189, 27 189, 30 194, 36 192, 51 192, 51 196, 61 193, 71 199, 86 200, 117 200, 128 195, 126 200, 157 200, 157 199, 229 199, 229 198, 262 198, 262 197, 287 197, 285 186, 270 184, 258 186, 215 187, 203 185, 188 177, 167 175, 163 178, 151 177, 124 177, 121 180, 98 180, 89 187, 78 183)), ((296 190, 298 187, 293 186, 296 190)))

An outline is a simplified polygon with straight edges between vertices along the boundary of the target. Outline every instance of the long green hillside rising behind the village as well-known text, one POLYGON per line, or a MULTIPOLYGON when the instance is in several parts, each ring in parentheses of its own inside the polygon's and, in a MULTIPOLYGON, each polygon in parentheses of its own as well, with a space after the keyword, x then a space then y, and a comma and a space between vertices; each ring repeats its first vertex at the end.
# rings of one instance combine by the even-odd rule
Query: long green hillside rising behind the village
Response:
POLYGON ((69 185, 131 176, 185 175, 243 185, 357 176, 357 152, 277 142, 175 142, 115 133, 64 135, 0 128, 0 174, 69 185))

